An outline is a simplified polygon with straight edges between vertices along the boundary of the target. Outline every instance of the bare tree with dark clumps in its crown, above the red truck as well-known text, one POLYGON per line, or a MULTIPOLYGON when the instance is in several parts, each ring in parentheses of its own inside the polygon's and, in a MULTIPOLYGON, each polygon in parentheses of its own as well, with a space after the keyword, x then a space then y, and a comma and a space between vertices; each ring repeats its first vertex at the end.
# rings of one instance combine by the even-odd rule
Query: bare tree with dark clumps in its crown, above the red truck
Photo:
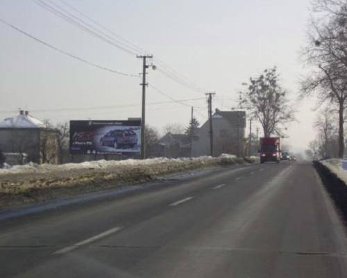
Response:
POLYGON ((239 106, 259 120, 264 137, 273 133, 282 136, 281 126, 294 120, 294 109, 287 99, 287 91, 278 79, 276 67, 266 69, 259 77, 251 77, 249 83, 243 83, 247 89, 239 92, 239 106))

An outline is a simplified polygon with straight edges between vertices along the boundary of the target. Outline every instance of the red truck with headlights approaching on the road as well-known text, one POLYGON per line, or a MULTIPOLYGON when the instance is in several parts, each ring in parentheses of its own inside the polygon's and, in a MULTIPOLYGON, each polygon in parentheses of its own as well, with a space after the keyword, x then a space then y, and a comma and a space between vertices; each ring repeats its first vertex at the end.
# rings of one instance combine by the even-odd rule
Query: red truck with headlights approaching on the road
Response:
POLYGON ((274 161, 279 163, 281 160, 280 138, 263 137, 260 138, 260 163, 274 161))

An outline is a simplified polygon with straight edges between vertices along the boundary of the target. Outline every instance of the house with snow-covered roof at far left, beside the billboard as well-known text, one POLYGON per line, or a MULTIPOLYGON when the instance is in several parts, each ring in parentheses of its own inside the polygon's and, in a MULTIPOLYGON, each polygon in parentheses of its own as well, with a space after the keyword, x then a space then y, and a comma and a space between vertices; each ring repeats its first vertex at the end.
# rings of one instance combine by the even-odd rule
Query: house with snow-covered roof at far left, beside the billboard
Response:
POLYGON ((57 164, 58 136, 57 129, 46 127, 28 111, 20 111, 19 115, 0 122, 0 149, 4 153, 17 154, 17 164, 28 161, 57 164))

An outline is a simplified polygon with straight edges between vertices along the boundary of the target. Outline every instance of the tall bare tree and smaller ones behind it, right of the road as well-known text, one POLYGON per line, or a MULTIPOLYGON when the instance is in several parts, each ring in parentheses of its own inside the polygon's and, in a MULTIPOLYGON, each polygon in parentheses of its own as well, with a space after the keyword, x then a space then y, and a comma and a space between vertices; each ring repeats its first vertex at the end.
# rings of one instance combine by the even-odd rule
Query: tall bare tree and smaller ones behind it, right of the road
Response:
POLYGON ((301 91, 303 97, 315 95, 319 106, 328 104, 330 108, 316 123, 319 134, 311 142, 309 152, 314 156, 343 157, 347 107, 347 2, 315 0, 313 12, 303 53, 305 63, 310 66, 310 75, 303 80, 301 91), (331 113, 335 113, 337 119, 331 113), (336 136, 337 154, 331 150, 335 148, 336 136))

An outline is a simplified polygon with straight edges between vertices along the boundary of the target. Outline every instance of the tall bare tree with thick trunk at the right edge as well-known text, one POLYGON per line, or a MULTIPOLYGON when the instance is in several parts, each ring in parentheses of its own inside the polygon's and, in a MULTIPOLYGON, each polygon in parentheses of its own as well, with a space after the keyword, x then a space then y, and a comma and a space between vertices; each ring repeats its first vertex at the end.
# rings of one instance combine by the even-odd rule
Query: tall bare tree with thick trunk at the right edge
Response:
POLYGON ((316 0, 315 17, 310 24, 303 53, 305 63, 313 66, 301 83, 302 96, 315 94, 319 103, 330 102, 339 115, 339 157, 344 156, 344 111, 347 100, 347 3, 316 0))

